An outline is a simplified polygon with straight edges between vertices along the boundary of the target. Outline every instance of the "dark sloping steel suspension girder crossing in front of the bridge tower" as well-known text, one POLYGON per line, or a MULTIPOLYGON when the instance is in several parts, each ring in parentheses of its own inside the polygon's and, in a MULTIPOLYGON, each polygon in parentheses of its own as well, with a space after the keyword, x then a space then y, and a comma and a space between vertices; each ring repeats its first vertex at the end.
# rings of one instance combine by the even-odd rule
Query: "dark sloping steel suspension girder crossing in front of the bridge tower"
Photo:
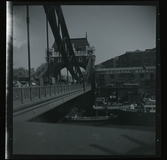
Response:
POLYGON ((66 63, 66 66, 68 67, 71 75, 76 80, 80 80, 80 78, 83 78, 83 75, 79 68, 78 62, 76 60, 76 57, 75 57, 75 54, 74 54, 74 51, 71 45, 70 37, 68 34, 68 30, 65 24, 65 20, 64 20, 64 16, 63 16, 61 7, 55 6, 55 5, 43 5, 43 7, 47 15, 47 18, 48 18, 51 30, 53 32, 55 41, 57 43, 58 49, 62 55, 64 62, 66 63), (58 17, 57 20, 56 20, 55 11, 58 17), (60 35, 59 25, 61 26, 62 37, 60 35), (72 57, 70 61, 69 61, 68 53, 65 50, 65 43, 67 44, 67 51, 69 51, 69 56, 72 57), (73 70, 73 66, 76 67, 76 72, 73 70))

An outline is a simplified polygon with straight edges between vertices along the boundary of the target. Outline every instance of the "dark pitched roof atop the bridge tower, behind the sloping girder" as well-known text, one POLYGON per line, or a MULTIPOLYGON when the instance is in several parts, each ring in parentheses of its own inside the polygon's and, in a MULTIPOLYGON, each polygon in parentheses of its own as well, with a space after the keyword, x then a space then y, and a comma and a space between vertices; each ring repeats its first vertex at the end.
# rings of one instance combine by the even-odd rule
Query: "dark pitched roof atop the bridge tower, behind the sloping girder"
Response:
MULTIPOLYGON (((72 38, 71 44, 74 44, 76 51, 86 51, 86 46, 90 46, 87 38, 72 38)), ((53 46, 54 51, 58 51, 57 44, 54 42, 53 46)))

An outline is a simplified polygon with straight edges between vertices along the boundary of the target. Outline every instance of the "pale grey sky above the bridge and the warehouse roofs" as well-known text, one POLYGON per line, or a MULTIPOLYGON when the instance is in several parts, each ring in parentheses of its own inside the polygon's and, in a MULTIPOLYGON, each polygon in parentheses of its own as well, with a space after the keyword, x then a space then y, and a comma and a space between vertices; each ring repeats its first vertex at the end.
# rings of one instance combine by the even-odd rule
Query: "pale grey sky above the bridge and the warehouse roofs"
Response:
MULTIPOLYGON (((99 64, 126 51, 156 47, 156 7, 62 5, 70 38, 85 38, 95 47, 99 64)), ((42 6, 29 6, 31 68, 45 63, 46 16, 42 6)), ((13 8, 14 68, 28 69, 26 7, 13 8)), ((54 37, 49 26, 49 47, 54 37)))

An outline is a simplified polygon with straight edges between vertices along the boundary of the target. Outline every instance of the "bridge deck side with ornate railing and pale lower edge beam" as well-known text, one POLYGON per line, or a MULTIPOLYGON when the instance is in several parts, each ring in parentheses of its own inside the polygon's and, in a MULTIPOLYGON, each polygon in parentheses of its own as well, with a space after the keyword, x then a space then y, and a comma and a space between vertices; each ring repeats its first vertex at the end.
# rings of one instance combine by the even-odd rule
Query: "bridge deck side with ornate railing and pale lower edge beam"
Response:
POLYGON ((13 120, 28 121, 91 90, 86 84, 13 89, 13 120))

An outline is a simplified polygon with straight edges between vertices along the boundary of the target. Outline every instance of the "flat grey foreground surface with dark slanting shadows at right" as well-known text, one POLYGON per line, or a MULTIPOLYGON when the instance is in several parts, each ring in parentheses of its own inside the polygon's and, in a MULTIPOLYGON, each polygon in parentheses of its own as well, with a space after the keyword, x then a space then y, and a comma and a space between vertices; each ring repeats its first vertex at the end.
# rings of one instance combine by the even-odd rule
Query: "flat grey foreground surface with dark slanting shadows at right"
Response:
POLYGON ((155 126, 13 124, 19 155, 155 155, 155 144, 155 126))

